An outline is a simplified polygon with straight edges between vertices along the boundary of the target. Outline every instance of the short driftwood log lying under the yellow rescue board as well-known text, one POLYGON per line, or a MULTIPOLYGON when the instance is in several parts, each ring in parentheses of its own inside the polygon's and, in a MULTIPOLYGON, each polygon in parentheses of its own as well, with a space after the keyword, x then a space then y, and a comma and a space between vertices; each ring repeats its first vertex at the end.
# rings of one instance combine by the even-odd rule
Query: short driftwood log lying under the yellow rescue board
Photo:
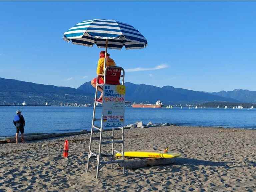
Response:
MULTIPOLYGON (((174 163, 176 158, 146 158, 146 159, 126 159, 124 163, 125 169, 138 169, 154 165, 168 165, 174 163)), ((118 163, 123 167, 123 162, 118 163)))

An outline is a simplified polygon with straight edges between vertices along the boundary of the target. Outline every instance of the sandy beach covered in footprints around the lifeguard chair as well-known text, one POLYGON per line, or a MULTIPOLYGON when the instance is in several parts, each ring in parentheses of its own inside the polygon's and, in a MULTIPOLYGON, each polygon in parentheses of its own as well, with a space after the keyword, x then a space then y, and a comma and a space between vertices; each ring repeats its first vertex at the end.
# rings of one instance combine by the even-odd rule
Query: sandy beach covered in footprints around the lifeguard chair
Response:
MULTIPOLYGON (((121 132, 115 133, 121 137, 121 132)), ((125 150, 169 146, 170 152, 182 156, 174 164, 126 170, 125 175, 118 165, 114 169, 106 165, 99 179, 96 160, 86 173, 89 137, 1 144, 0 191, 256 191, 256 130, 179 126, 125 130, 125 150), (65 139, 69 140, 66 159, 65 139)), ((95 150, 97 146, 95 141, 95 150)), ((103 146, 103 151, 110 148, 103 146)))

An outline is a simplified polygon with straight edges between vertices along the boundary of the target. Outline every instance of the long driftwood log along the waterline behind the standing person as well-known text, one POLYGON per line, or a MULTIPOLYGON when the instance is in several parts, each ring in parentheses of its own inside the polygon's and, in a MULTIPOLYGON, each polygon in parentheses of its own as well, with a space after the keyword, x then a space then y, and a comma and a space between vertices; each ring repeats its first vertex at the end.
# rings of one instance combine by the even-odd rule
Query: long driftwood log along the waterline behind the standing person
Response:
MULTIPOLYGON (((124 129, 130 129, 130 127, 125 127, 124 129)), ((120 130, 118 128, 115 128, 115 130, 120 130)), ((112 131, 112 129, 103 129, 103 131, 112 131)), ((94 133, 99 132, 98 130, 94 130, 94 133)), ((49 133, 49 134, 40 134, 40 135, 30 135, 26 136, 24 135, 25 141, 33 141, 33 140, 40 140, 40 139, 49 139, 53 137, 64 137, 64 136, 72 136, 72 135, 82 135, 91 133, 91 131, 79 131, 79 132, 70 132, 70 133, 49 133)), ((16 143, 15 137, 10 137, 5 140, 7 143, 16 143)), ((6 143, 2 142, 2 143, 6 143)), ((19 136, 19 142, 21 142, 21 137, 19 136)), ((1 143, 1 142, 0 142, 1 143)))

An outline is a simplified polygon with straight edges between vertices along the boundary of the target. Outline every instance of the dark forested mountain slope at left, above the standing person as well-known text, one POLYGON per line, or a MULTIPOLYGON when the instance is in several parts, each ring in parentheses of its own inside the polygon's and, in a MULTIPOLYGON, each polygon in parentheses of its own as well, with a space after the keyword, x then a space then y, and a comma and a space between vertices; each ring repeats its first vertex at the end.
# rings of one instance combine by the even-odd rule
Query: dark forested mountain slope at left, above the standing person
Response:
POLYGON ((86 95, 84 91, 71 87, 57 87, 54 85, 43 85, 18 81, 14 79, 0 78, 0 104, 22 103, 38 105, 49 102, 59 105, 61 102, 88 103, 93 97, 86 95))

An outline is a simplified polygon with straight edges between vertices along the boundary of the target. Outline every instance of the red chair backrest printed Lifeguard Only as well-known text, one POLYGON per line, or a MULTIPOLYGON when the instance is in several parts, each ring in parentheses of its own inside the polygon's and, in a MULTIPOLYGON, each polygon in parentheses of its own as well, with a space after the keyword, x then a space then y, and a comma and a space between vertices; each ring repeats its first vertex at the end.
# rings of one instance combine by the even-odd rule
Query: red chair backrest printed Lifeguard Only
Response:
POLYGON ((119 85, 121 76, 121 67, 108 66, 105 71, 105 84, 119 85))

